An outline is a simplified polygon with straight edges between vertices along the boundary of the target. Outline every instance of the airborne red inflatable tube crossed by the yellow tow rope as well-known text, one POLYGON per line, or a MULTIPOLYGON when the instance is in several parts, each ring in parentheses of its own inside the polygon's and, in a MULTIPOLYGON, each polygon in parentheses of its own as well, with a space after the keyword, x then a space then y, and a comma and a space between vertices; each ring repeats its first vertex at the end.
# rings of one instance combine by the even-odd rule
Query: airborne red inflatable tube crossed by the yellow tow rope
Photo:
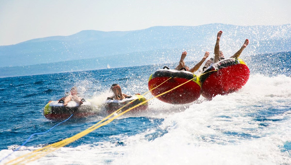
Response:
MULTIPOLYGON (((189 81, 190 79, 193 79, 196 77, 195 74, 184 71, 184 70, 170 70, 165 69, 167 67, 164 67, 164 69, 160 69, 155 71, 153 74, 150 75, 149 81, 148 81, 148 89, 152 90, 156 86, 162 84, 164 81, 166 81, 164 84, 160 85, 159 87, 155 88, 151 91, 152 95, 157 96, 161 93, 164 93, 166 91, 169 91, 176 86, 183 84, 186 81, 189 81)), ((198 77, 193 79, 192 81, 187 82, 186 84, 162 95, 157 97, 157 99, 161 100, 162 102, 166 102, 169 104, 188 104, 191 102, 194 102, 200 97, 200 90, 201 90, 201 82, 198 77)))

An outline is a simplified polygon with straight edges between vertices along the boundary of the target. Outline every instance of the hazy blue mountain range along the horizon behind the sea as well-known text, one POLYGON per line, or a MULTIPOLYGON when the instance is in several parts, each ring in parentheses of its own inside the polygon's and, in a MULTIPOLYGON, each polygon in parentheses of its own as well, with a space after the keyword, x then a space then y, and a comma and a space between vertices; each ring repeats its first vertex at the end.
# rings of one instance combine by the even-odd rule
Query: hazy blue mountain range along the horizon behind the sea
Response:
MULTIPOLYGON (((234 54, 250 40, 244 56, 291 51, 291 24, 278 26, 235 26, 206 24, 201 26, 155 26, 136 31, 85 30, 70 36, 53 36, 0 46, 1 70, 30 68, 41 64, 51 72, 52 66, 71 63, 71 70, 171 63, 187 50, 186 61, 213 54, 217 32, 222 30, 221 50, 234 54), (75 63, 74 61, 82 61, 75 63), (82 64, 82 65, 81 65, 82 64), (21 67, 19 67, 21 66, 21 67), (16 67, 16 68, 14 68, 16 67)), ((56 69, 56 67, 53 67, 56 69)))

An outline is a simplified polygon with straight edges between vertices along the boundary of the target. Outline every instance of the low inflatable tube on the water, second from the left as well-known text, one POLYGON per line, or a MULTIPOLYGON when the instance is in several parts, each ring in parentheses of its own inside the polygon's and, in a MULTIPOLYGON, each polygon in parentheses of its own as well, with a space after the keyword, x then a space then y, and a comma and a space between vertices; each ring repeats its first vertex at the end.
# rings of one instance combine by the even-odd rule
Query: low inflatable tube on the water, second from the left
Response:
MULTIPOLYGON (((145 100, 147 100, 147 99, 145 97, 143 97, 142 95, 134 95, 134 96, 122 99, 122 100, 113 100, 113 98, 108 97, 104 103, 104 107, 105 107, 107 113, 110 114, 110 113, 113 113, 114 111, 120 109, 121 107, 125 106, 126 104, 128 104, 128 105, 126 107, 124 107, 123 109, 121 109, 121 111, 125 111, 125 110, 127 110, 127 109, 141 103, 141 102, 144 102, 145 100), (132 100, 135 100, 135 101, 128 104, 132 100)), ((145 111, 146 109, 148 109, 148 102, 141 104, 140 106, 128 111, 127 113, 136 113, 136 112, 140 112, 140 111, 145 111)))

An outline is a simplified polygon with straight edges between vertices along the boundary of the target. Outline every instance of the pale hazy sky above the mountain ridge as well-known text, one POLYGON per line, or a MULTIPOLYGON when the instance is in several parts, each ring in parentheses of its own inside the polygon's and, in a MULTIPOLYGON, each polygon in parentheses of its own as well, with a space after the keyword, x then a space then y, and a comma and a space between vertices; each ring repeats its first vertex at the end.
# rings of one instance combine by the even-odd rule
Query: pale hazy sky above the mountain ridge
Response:
POLYGON ((0 0, 0 45, 82 30, 291 24, 291 0, 0 0))

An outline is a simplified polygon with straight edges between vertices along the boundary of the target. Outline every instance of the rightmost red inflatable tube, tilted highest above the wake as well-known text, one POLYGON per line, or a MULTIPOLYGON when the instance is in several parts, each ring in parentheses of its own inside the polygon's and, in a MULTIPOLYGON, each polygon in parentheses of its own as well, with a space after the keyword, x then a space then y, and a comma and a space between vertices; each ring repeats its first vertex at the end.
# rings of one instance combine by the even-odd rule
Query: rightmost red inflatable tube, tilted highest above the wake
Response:
POLYGON ((214 63, 203 73, 206 74, 200 76, 201 95, 209 100, 216 95, 238 91, 250 76, 249 68, 242 59, 238 58, 228 58, 214 63))

